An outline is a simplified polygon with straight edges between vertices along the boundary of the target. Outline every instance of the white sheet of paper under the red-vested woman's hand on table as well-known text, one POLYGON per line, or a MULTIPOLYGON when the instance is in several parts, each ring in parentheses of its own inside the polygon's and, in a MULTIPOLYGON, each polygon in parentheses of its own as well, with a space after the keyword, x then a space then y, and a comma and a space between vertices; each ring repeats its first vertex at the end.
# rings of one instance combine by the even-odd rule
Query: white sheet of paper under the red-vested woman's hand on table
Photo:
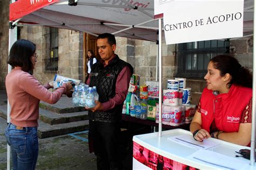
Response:
POLYGON ((204 149, 207 150, 208 148, 220 145, 219 143, 216 143, 214 141, 210 141, 205 139, 203 142, 194 140, 193 136, 188 135, 188 134, 183 134, 179 136, 173 136, 170 138, 167 138, 173 141, 176 141, 179 144, 183 144, 186 146, 191 146, 191 147, 196 147, 198 149, 204 149))

